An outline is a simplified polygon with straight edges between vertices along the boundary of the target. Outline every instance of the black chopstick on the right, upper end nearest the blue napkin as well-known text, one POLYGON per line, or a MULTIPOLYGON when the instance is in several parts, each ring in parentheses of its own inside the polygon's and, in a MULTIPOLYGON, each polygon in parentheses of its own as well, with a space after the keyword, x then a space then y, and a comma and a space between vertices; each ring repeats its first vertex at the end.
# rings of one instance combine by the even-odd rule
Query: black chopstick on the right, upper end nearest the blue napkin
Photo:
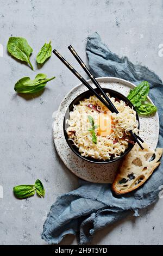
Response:
MULTIPOLYGON (((80 66, 82 66, 82 68, 84 69, 84 71, 86 72, 86 74, 91 78, 91 81, 95 84, 95 86, 100 90, 100 92, 102 93, 104 99, 109 102, 109 105, 111 106, 110 110, 111 112, 115 112, 118 113, 118 110, 116 109, 116 107, 114 106, 114 104, 111 102, 111 100, 109 99, 109 97, 105 94, 105 92, 103 91, 103 89, 101 88, 101 86, 99 85, 99 83, 97 82, 96 78, 91 74, 90 70, 87 69, 85 63, 83 62, 83 60, 79 57, 78 53, 74 50, 74 48, 70 45, 68 46, 68 49, 71 51, 71 53, 73 54, 73 56, 76 58, 77 62, 80 64, 80 66)), ((138 139, 143 143, 143 140, 138 136, 135 135, 135 133, 133 133, 133 131, 129 131, 130 134, 133 136, 133 138, 135 139, 135 141, 137 142, 137 144, 139 144, 139 147, 141 149, 143 149, 142 145, 140 144, 140 142, 138 141, 138 139)))

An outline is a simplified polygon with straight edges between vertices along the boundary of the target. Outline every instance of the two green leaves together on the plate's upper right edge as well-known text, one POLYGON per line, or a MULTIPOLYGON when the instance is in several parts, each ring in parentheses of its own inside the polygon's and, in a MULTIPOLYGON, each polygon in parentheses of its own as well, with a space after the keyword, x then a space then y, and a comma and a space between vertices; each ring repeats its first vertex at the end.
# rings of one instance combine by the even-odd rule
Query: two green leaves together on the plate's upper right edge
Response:
POLYGON ((149 83, 147 81, 141 82, 133 90, 130 90, 127 98, 133 103, 138 114, 150 115, 157 111, 156 106, 151 103, 143 103, 147 100, 149 93, 149 83))

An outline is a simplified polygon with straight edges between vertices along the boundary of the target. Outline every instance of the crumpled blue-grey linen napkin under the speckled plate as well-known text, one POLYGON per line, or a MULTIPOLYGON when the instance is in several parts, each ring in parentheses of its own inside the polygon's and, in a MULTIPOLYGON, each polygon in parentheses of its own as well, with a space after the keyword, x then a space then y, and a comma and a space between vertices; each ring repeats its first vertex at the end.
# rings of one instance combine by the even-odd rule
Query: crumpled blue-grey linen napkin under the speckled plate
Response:
MULTIPOLYGON (((120 58, 112 53, 97 33, 87 38, 86 53, 95 77, 120 77, 134 84, 148 81, 151 84, 150 97, 158 107, 162 120, 163 84, 154 72, 145 66, 134 65, 127 57, 120 58)), ((161 123, 158 147, 163 147, 162 128, 161 123)), ((42 239, 47 243, 59 243, 65 235, 74 234, 78 237, 78 243, 85 245, 91 241, 96 230, 120 220, 131 210, 135 216, 139 216, 139 209, 159 198, 159 186, 163 185, 163 168, 160 164, 145 185, 121 197, 112 194, 110 184, 79 180, 79 185, 77 190, 58 197, 51 206, 42 233, 42 239)))

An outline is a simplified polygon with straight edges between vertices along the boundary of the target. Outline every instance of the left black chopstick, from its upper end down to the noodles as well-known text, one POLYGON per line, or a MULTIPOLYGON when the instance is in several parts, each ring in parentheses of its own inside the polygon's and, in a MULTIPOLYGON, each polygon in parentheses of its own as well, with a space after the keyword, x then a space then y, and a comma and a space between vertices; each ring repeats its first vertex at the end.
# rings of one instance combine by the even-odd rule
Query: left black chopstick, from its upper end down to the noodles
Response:
POLYGON ((95 89, 93 89, 89 83, 86 82, 86 80, 80 76, 80 74, 70 65, 70 63, 67 62, 67 60, 61 56, 61 54, 57 51, 57 50, 53 50, 53 53, 61 60, 62 63, 64 63, 68 69, 71 70, 71 72, 79 78, 79 80, 89 89, 92 91, 93 94, 96 95, 96 97, 112 112, 112 108, 110 107, 110 105, 108 104, 108 102, 106 102, 103 97, 101 97, 95 89))

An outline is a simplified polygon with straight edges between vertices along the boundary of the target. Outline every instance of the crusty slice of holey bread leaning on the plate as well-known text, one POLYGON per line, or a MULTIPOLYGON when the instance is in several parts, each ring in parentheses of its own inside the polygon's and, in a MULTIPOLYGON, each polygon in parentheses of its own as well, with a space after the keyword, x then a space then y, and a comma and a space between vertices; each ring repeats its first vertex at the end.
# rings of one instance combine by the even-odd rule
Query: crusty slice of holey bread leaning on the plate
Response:
POLYGON ((124 157, 112 184, 112 190, 116 194, 125 194, 140 187, 159 166, 162 149, 151 150, 146 143, 142 145, 143 150, 136 143, 124 157))

